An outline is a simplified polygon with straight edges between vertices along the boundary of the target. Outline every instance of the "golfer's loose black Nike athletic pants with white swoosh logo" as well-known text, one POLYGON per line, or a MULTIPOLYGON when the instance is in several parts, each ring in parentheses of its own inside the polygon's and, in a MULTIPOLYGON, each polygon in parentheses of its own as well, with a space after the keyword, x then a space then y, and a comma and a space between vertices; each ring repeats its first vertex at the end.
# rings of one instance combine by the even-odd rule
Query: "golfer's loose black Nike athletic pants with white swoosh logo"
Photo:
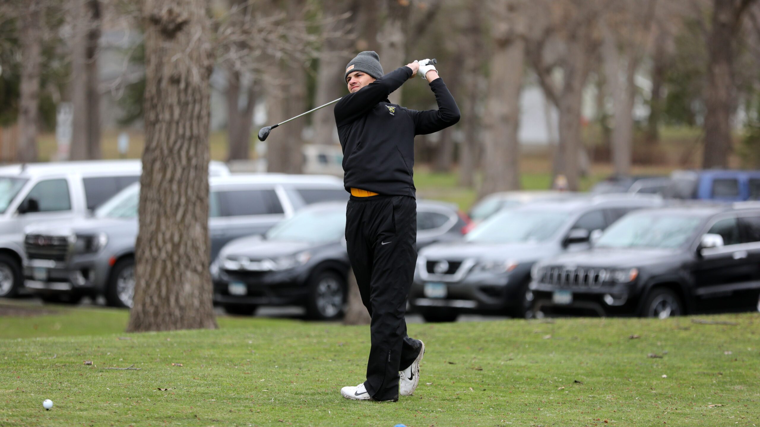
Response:
POLYGON ((417 203, 410 196, 351 196, 346 209, 348 258, 372 316, 364 385, 374 400, 398 399, 398 372, 420 354, 407 336, 407 296, 417 261, 417 203))

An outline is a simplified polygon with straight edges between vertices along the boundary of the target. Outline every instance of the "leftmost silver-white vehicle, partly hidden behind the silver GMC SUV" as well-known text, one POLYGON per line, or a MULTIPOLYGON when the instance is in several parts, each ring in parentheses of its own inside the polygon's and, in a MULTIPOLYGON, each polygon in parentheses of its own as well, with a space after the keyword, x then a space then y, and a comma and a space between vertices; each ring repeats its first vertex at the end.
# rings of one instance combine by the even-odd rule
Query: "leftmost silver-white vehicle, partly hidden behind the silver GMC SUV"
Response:
MULTIPOLYGON (((141 160, 26 163, 0 167, 0 297, 23 283, 24 228, 32 223, 84 217, 140 179, 141 160)), ((230 174, 211 162, 212 176, 230 174)))

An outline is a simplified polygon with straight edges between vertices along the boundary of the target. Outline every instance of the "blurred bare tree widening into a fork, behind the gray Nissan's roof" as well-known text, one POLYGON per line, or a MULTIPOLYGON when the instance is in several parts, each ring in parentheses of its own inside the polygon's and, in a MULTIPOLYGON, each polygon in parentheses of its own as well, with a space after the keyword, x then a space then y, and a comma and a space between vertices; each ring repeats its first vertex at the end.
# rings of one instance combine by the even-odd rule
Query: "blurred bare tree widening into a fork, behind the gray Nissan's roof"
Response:
POLYGON ((528 55, 544 93, 559 109, 552 175, 564 175, 571 190, 578 190, 580 183, 581 101, 599 45, 597 20, 605 5, 598 0, 531 3, 528 55))

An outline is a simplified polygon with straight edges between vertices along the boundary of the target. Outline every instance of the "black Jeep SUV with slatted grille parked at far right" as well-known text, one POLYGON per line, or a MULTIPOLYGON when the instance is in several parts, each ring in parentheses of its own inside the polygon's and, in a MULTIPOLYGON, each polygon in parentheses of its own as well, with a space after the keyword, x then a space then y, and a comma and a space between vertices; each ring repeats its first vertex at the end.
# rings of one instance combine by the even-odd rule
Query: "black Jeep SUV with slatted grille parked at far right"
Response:
POLYGON ((629 213, 593 248, 536 264, 533 277, 537 315, 667 318, 754 308, 760 293, 760 206, 629 213))

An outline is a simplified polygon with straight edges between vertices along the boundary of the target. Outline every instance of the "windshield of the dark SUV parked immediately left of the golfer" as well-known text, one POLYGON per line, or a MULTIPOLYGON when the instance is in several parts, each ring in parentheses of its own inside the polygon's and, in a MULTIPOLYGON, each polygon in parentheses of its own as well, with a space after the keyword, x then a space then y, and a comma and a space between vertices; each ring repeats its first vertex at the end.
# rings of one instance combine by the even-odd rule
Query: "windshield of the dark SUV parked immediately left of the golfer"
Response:
POLYGON ((278 223, 267 232, 267 240, 288 242, 334 242, 346 230, 345 208, 318 208, 301 210, 278 223))

